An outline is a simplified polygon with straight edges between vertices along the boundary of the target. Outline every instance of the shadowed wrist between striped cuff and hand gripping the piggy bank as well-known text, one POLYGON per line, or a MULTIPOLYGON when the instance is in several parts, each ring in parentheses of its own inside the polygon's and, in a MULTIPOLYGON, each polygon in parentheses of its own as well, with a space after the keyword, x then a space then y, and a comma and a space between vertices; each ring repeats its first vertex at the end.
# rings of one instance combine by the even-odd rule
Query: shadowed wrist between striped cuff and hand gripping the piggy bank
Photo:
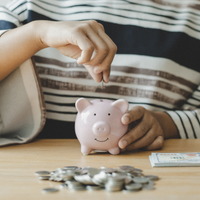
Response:
POLYGON ((160 126, 162 127, 165 139, 180 138, 176 125, 174 124, 173 120, 167 113, 152 112, 152 114, 154 115, 154 117, 157 119, 160 126))

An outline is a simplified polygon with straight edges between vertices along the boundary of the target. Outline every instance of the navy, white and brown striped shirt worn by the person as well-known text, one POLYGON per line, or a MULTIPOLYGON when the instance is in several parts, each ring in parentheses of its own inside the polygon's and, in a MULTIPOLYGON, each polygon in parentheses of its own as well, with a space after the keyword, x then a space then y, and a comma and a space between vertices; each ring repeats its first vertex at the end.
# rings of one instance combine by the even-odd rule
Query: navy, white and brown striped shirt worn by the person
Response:
POLYGON ((47 108, 41 137, 74 138, 75 101, 85 97, 167 112, 181 138, 200 138, 200 1, 15 0, 0 7, 0 34, 41 19, 97 20, 118 47, 104 89, 56 49, 34 55, 47 108))

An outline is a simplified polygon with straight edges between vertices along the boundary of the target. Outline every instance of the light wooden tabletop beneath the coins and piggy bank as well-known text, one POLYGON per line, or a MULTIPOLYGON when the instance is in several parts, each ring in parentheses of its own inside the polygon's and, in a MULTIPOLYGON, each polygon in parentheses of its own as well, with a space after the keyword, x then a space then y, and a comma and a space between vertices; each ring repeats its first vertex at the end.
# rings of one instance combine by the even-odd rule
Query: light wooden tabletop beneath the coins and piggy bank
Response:
MULTIPOLYGON (((167 140, 157 152, 199 152, 200 140, 167 140)), ((154 151, 156 152, 156 151, 154 151)), ((86 199, 86 200, 175 200, 200 199, 200 167, 152 168, 150 151, 123 153, 120 155, 96 154, 83 156, 77 140, 36 140, 29 144, 7 146, 0 149, 0 199, 86 199), (139 192, 77 191, 61 189, 59 192, 43 194, 46 187, 57 187, 60 183, 40 181, 35 172, 53 171, 64 166, 118 167, 131 165, 143 169, 143 173, 160 177, 155 190, 139 192)))

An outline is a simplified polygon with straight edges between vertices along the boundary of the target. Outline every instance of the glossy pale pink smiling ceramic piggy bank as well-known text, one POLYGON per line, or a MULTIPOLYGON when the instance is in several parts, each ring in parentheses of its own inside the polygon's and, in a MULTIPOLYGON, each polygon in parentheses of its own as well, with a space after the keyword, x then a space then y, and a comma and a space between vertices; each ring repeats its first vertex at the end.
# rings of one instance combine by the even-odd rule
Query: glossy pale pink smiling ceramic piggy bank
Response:
POLYGON ((122 124, 121 117, 128 107, 129 104, 124 99, 88 101, 80 98, 76 101, 78 113, 75 132, 84 155, 92 150, 108 151, 111 154, 120 153, 118 141, 128 129, 128 125, 122 124))

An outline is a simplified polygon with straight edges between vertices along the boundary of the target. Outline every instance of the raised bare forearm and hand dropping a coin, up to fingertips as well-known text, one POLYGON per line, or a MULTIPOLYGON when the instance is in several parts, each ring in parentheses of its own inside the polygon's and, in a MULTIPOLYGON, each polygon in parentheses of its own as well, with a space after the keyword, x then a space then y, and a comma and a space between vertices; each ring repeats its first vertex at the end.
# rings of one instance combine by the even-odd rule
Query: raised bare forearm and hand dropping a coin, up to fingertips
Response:
POLYGON ((117 51, 101 24, 89 21, 34 21, 0 37, 0 81, 21 63, 46 48, 83 64, 96 82, 109 82, 117 51), (94 55, 94 56, 93 56, 94 55))

